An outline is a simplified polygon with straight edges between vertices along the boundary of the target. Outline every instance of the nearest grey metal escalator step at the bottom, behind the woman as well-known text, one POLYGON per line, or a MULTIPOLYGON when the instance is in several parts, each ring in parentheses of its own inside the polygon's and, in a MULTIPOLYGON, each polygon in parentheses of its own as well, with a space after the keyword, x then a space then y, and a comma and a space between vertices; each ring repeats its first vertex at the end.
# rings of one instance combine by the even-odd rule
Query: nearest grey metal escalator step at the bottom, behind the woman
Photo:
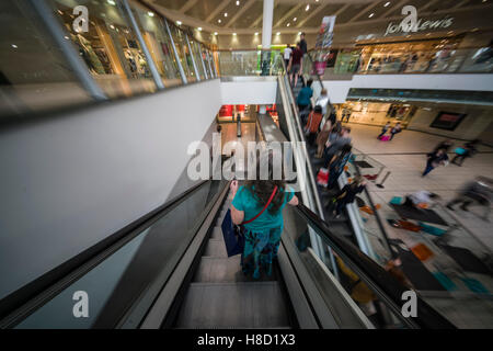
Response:
POLYGON ((277 282, 192 283, 177 328, 286 328, 286 305, 277 282))

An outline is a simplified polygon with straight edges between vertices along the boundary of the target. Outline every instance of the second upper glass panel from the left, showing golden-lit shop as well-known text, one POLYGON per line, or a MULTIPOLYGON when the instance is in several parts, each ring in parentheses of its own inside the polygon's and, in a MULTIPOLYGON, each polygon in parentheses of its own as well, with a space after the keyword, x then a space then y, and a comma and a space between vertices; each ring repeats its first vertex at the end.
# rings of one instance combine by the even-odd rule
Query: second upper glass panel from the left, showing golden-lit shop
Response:
POLYGON ((147 58, 119 1, 50 0, 57 18, 108 97, 154 92, 147 58), (89 10, 89 32, 77 33, 73 8, 89 10))

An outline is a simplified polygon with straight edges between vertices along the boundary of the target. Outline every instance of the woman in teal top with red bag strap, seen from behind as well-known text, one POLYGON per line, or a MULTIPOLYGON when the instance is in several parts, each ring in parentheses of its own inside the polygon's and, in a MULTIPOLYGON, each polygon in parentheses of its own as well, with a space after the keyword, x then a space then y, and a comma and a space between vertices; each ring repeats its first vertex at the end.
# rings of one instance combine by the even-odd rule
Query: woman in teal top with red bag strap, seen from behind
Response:
POLYGON ((254 279, 260 278, 261 267, 267 275, 272 274, 273 260, 277 256, 283 233, 283 208, 286 204, 297 206, 298 197, 294 190, 286 184, 284 179, 274 179, 273 157, 268 155, 268 174, 261 167, 261 158, 256 162, 255 180, 248 180, 244 185, 239 186, 238 181, 231 182, 231 218, 236 225, 244 220, 255 218, 244 225, 244 249, 241 256, 243 273, 253 273, 254 279), (262 177, 261 178, 261 169, 262 177), (265 179, 267 180, 261 180, 265 179))

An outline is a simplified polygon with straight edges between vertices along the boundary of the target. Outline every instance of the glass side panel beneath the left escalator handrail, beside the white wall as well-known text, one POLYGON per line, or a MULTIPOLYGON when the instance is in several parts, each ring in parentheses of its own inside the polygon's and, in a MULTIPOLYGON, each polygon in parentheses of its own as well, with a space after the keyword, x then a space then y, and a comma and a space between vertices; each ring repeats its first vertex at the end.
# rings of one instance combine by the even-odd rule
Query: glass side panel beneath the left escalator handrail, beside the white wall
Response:
MULTIPOLYGON (((114 328, 152 284, 165 283, 226 183, 209 181, 195 190, 16 328, 114 328), (79 291, 89 296, 89 318, 73 316, 72 296, 79 291)), ((142 309, 154 297, 146 295, 149 306, 142 309)))

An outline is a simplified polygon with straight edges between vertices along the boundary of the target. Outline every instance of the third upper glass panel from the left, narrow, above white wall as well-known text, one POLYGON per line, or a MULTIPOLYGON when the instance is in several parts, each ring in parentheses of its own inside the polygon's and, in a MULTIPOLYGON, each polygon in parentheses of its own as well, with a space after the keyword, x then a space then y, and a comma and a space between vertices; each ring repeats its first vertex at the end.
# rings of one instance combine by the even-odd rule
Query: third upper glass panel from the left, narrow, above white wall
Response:
POLYGON ((182 84, 180 68, 164 21, 158 14, 150 12, 139 3, 131 1, 130 5, 139 24, 144 41, 149 48, 164 86, 173 87, 182 84))

